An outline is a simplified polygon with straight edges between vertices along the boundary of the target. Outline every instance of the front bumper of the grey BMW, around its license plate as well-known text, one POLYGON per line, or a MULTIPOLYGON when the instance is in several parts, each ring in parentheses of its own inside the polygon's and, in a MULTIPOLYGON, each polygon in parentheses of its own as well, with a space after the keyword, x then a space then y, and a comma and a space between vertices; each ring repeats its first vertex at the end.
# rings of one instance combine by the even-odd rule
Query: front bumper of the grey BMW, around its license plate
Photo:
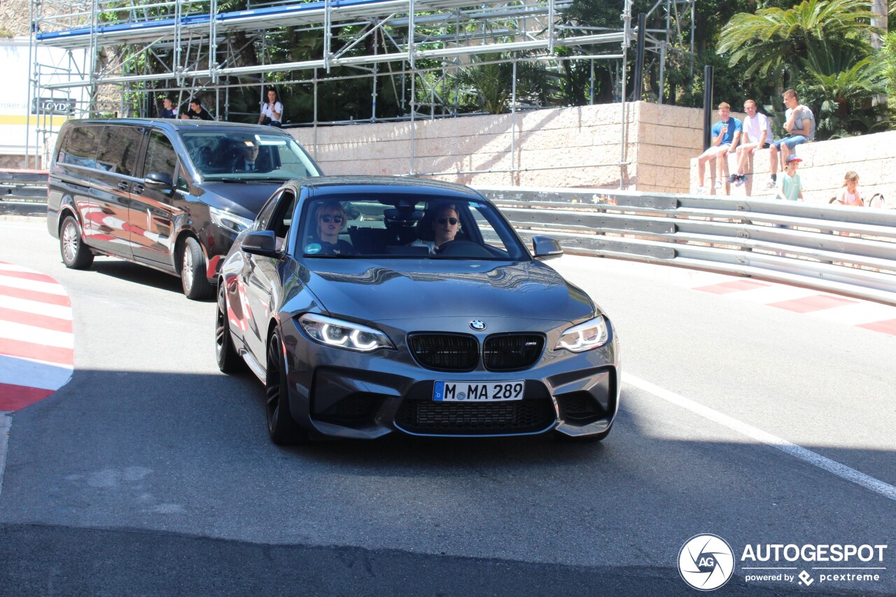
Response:
POLYGON ((521 371, 459 373, 422 368, 403 345, 366 354, 311 342, 291 320, 283 332, 290 411, 304 428, 325 437, 495 437, 551 430, 583 437, 605 433, 618 411, 620 366, 612 336, 583 353, 546 349, 521 371), (435 402, 438 380, 523 380, 525 390, 518 401, 435 402))

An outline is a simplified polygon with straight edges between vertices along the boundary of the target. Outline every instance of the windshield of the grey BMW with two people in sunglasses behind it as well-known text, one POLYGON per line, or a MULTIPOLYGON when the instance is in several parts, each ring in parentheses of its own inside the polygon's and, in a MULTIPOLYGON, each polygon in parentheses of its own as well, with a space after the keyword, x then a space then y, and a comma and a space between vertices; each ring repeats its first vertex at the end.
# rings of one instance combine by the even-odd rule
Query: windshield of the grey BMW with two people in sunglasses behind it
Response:
POLYGON ((305 203, 306 257, 519 261, 529 253, 495 206, 429 195, 330 196, 305 203))

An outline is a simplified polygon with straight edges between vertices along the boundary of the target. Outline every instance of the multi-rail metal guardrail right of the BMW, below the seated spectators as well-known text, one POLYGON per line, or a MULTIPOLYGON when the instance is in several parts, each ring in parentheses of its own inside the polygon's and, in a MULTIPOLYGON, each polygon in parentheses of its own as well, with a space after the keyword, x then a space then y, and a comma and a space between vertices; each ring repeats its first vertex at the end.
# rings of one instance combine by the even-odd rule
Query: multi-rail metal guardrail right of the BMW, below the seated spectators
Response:
POLYGON ((896 305, 896 211, 607 189, 479 188, 523 238, 896 305))

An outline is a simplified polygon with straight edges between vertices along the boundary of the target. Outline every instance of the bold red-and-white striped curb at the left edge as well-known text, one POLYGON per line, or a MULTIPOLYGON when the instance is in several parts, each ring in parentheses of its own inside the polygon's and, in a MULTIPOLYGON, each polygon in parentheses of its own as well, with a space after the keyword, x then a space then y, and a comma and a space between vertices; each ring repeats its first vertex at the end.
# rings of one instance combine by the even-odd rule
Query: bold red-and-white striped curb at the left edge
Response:
POLYGON ((49 276, 0 262, 0 412, 18 411, 68 383, 72 304, 49 276))

